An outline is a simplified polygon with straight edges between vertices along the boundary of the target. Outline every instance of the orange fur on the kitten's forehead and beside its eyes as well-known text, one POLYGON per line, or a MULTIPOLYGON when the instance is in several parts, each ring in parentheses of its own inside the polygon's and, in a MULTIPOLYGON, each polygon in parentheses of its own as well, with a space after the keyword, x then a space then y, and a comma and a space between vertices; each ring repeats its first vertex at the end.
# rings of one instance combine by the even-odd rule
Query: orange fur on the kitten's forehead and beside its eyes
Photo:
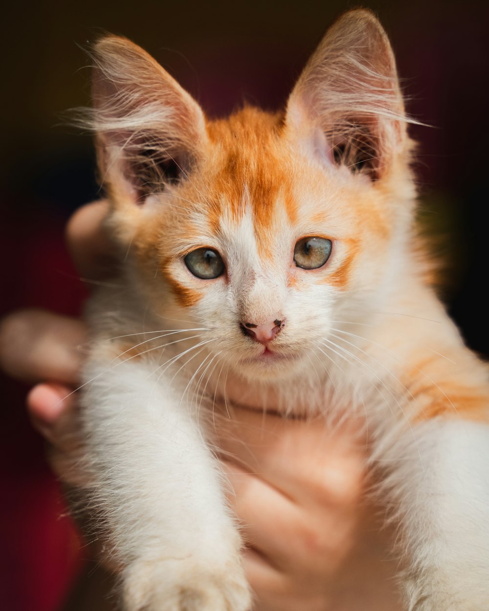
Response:
MULTIPOLYGON (((268 259, 274 255, 274 236, 283 219, 288 219, 290 226, 295 228, 301 224, 299 208, 304 201, 317 202, 313 207, 307 204, 307 211, 304 211, 307 222, 313 227, 317 224, 318 230, 322 226, 323 234, 328 233, 329 221, 334 224, 334 218, 340 216, 343 225, 340 235, 331 229, 332 235, 325 236, 333 240, 339 238, 350 246, 356 244, 350 247, 339 265, 334 266, 333 273, 326 274, 323 279, 325 284, 343 289, 349 283, 355 260, 361 252, 358 246, 361 236, 367 233, 377 235, 381 241, 389 240, 391 219, 386 194, 381 191, 366 193, 358 184, 344 189, 342 181, 334 177, 326 183, 329 188, 325 192, 323 172, 321 170, 322 178, 315 180, 314 175, 320 170, 318 167, 314 170, 313 166, 312 175, 304 182, 304 163, 294 159, 295 151, 284 129, 282 114, 246 107, 228 119, 209 121, 206 129, 207 154, 175 192, 177 205, 170 203, 156 226, 134 238, 139 251, 150 255, 149 250, 161 242, 161 236, 172 243, 174 255, 183 255, 183 246, 188 244, 213 247, 212 236, 219 235, 223 217, 239 223, 251 210, 257 250, 260 257, 268 259), (329 210, 328 199, 340 201, 341 210, 337 203, 329 210), (155 236, 155 231, 159 237, 155 236)), ((177 301, 183 307, 196 305, 202 293, 186 287, 185 281, 175 279, 169 251, 161 247, 159 250, 161 273, 177 301)))

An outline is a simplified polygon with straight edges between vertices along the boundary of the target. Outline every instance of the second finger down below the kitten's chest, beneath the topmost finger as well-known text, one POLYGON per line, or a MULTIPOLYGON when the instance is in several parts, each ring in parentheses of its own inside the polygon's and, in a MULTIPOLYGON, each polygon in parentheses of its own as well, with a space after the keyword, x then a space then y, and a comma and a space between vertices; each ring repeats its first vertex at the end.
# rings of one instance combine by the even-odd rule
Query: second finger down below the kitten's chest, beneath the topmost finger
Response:
POLYGON ((355 544, 362 513, 360 485, 358 499, 323 504, 311 500, 310 483, 304 478, 305 498, 298 503, 259 474, 241 471, 232 463, 224 469, 246 544, 277 573, 315 585, 340 570, 355 544))

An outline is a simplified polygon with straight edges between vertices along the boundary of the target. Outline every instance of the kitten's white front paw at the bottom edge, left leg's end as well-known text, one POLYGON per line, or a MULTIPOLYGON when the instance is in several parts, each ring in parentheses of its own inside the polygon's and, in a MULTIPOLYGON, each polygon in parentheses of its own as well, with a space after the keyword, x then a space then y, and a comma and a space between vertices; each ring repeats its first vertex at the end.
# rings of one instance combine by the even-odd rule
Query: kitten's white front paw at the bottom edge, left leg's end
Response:
POLYGON ((249 611, 251 593, 238 562, 138 560, 124 581, 125 611, 249 611))

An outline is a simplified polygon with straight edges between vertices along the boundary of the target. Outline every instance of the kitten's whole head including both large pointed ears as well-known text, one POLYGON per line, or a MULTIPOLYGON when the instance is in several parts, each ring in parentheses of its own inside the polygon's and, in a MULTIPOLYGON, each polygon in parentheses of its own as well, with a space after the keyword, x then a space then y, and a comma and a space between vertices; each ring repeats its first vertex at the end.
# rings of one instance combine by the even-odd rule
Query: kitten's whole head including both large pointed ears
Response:
POLYGON ((394 57, 370 12, 334 24, 278 114, 207 120, 128 40, 94 56, 110 224, 168 326, 193 321, 209 353, 270 379, 311 368, 332 329, 382 307, 414 193, 394 57))

